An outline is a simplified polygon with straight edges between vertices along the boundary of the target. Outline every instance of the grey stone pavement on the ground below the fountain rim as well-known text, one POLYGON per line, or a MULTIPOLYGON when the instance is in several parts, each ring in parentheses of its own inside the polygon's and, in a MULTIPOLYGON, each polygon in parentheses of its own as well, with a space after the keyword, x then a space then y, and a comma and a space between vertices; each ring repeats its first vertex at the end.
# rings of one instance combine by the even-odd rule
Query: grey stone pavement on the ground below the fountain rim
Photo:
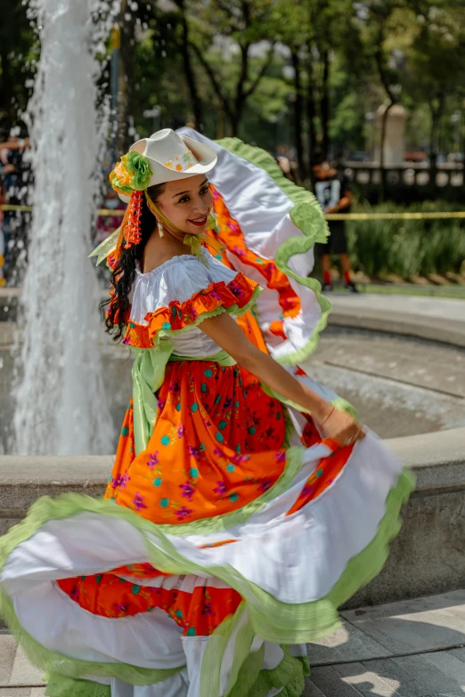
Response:
MULTIPOLYGON (((463 697, 465 590, 342 612, 308 645, 304 697, 463 697)), ((0 697, 41 697, 44 682, 12 636, 0 635, 0 697)))

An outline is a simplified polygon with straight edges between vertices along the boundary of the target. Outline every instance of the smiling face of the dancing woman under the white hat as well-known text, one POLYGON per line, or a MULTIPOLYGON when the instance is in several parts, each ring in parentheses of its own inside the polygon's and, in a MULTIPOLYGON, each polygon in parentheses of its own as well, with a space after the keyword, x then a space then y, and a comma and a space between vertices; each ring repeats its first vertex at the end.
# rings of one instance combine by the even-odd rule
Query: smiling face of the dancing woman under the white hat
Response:
POLYGON ((159 209, 170 223, 186 234, 198 235, 207 227, 212 199, 205 174, 167 182, 157 200, 159 209))

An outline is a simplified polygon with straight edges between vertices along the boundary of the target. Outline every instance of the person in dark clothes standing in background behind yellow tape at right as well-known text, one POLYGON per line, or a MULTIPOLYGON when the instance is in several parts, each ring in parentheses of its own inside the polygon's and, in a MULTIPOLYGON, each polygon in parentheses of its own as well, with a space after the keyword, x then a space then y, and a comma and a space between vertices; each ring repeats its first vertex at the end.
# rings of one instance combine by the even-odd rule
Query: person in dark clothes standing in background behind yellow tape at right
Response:
MULTIPOLYGON (((314 154, 314 193, 325 213, 349 213, 353 194, 345 174, 341 174, 330 165, 321 152, 314 154)), ((330 238, 325 244, 315 245, 316 252, 321 257, 323 291, 332 290, 330 276, 331 254, 339 255, 344 285, 352 293, 358 293, 351 279, 350 258, 347 253, 347 237, 345 221, 330 221, 330 238)))

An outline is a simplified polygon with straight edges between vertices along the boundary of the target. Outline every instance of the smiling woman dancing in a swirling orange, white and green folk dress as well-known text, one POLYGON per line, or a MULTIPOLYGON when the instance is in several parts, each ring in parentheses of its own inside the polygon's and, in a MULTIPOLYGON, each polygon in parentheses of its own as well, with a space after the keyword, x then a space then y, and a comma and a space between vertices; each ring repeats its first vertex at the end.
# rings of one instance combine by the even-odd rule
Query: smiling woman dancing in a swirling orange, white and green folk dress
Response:
POLYGON ((306 375, 329 312, 312 195, 187 133, 110 175, 106 324, 135 361, 105 500, 40 499, 0 539, 0 611, 53 697, 298 697, 305 642, 379 572, 412 489, 306 375))

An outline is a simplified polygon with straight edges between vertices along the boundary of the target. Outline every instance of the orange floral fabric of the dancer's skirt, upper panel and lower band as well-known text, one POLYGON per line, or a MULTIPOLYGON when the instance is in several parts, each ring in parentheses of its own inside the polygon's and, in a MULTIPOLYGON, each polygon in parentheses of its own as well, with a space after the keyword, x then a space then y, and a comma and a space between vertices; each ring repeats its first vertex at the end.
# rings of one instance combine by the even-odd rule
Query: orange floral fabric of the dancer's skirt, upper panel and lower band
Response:
MULTIPOLYGON (((237 510, 280 478, 286 466, 284 407, 247 371, 215 361, 173 361, 158 400, 150 442, 138 456, 129 404, 105 498, 152 523, 182 525, 237 510)), ((309 447, 319 440, 310 420, 303 441, 309 447)), ((143 563, 58 585, 106 617, 162 608, 187 636, 209 635, 241 603, 231 588, 184 592, 182 584, 164 588, 164 577, 143 563)))

